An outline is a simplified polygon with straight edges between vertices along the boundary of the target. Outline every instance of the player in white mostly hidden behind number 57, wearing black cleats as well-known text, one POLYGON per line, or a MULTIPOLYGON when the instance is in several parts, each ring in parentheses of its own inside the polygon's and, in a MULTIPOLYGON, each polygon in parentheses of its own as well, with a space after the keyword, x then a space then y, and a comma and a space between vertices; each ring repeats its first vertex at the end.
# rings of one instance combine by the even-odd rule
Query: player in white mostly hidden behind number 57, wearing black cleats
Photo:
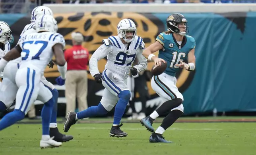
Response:
MULTIPOLYGON (((53 17, 53 13, 50 8, 46 6, 38 6, 33 9, 31 13, 31 23, 26 25, 23 31, 21 32, 20 38, 23 34, 32 34, 35 33, 35 20, 41 15, 51 15, 53 17)), ((20 39, 19 39, 20 41, 20 39)), ((18 41, 18 44, 19 44, 18 41)), ((10 49, 9 49, 10 50, 10 49)), ((6 108, 10 108, 13 101, 16 98, 16 93, 18 87, 15 83, 15 76, 17 69, 19 68, 19 63, 21 61, 21 57, 8 62, 4 69, 4 79, 2 85, 0 85, 0 112, 6 110, 6 108)), ((53 67, 53 62, 50 62, 49 67, 53 67)), ((52 92, 55 103, 54 108, 52 110, 52 117, 50 121, 50 136, 54 136, 54 140, 57 142, 67 142, 73 139, 73 136, 61 134, 57 128, 57 106, 58 106, 58 90, 54 88, 52 83, 48 82, 44 76, 41 77, 41 81, 44 85, 48 87, 48 89, 52 92)), ((59 83, 58 83, 59 84, 59 83)))

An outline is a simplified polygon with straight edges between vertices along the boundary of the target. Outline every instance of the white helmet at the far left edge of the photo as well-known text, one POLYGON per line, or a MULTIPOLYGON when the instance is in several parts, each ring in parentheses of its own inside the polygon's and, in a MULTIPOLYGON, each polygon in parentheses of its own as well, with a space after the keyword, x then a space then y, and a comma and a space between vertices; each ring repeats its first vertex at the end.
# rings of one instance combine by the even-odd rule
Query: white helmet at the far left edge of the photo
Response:
POLYGON ((0 21, 0 42, 6 43, 12 40, 12 31, 7 23, 0 21))

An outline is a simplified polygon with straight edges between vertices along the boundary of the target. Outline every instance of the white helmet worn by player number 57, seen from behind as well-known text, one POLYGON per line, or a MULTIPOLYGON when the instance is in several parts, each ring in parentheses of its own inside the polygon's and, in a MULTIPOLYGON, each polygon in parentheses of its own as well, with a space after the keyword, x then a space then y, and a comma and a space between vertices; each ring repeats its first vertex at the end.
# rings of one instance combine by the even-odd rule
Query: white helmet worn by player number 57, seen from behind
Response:
POLYGON ((57 21, 51 15, 42 15, 35 21, 36 32, 48 31, 56 33, 58 30, 57 21))

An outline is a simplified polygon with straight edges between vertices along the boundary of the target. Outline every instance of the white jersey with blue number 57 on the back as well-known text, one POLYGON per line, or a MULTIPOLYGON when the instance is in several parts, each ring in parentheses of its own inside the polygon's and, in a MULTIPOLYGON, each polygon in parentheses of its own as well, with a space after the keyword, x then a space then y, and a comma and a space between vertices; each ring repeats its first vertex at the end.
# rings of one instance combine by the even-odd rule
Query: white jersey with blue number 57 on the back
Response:
POLYGON ((22 49, 20 68, 29 67, 40 70, 43 75, 45 67, 53 56, 52 47, 57 43, 65 47, 64 37, 59 33, 24 33, 19 41, 19 46, 22 49))

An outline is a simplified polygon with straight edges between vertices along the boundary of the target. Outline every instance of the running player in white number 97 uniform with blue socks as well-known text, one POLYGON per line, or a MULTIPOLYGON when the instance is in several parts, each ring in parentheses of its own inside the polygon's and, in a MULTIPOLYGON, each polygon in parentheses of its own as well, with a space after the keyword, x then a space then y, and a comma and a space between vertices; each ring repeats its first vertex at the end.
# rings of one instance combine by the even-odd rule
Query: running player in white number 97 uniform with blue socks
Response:
POLYGON ((78 119, 105 115, 116 105, 114 122, 110 136, 125 137, 128 134, 120 130, 120 120, 130 100, 131 93, 126 85, 130 71, 133 76, 147 68, 147 60, 142 55, 145 43, 136 36, 136 25, 130 19, 122 19, 117 26, 118 36, 110 36, 103 40, 101 45, 89 61, 91 75, 98 83, 105 87, 101 102, 98 106, 91 106, 87 110, 75 113, 70 112, 64 124, 64 131, 68 132, 71 125, 78 119), (99 73, 97 62, 107 56, 107 64, 102 75, 99 73), (139 64, 132 68, 134 59, 139 64))

